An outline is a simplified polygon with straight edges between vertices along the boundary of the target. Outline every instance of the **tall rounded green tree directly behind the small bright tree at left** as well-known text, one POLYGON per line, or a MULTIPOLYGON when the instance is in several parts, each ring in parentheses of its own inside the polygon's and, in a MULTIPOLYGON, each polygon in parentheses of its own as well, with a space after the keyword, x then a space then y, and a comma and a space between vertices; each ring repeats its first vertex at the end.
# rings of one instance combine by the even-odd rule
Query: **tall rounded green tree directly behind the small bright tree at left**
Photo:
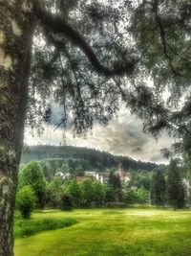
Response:
POLYGON ((19 174, 19 188, 31 185, 36 196, 37 207, 43 208, 46 202, 46 181, 42 168, 35 160, 27 164, 19 174))

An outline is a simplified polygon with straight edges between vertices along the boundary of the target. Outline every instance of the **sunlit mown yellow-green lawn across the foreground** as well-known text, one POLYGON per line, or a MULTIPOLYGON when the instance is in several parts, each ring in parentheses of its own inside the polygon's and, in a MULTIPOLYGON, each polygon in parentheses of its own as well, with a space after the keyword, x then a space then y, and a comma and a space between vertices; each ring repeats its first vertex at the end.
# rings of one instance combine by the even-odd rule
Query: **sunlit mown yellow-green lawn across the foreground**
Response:
POLYGON ((42 211, 70 227, 16 239, 15 256, 191 256, 191 212, 158 209, 42 211))

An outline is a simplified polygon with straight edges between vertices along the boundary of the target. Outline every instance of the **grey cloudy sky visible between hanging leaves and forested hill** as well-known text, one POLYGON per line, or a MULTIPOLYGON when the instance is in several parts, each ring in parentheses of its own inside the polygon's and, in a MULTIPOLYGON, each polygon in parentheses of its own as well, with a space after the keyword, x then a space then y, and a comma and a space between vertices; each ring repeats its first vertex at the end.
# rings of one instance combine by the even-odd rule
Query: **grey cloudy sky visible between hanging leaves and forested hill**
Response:
MULTIPOLYGON (((63 143, 63 129, 54 130, 54 128, 45 127, 44 133, 40 137, 32 136, 29 130, 26 130, 25 141, 28 145, 60 145, 63 143)), ((156 141, 150 135, 144 134, 141 122, 127 109, 120 110, 118 116, 107 127, 96 124, 86 138, 74 138, 70 131, 66 131, 65 134, 67 145, 94 148, 113 154, 126 155, 137 160, 158 163, 166 161, 160 154, 160 149, 168 148, 173 142, 167 135, 161 136, 156 141)))

